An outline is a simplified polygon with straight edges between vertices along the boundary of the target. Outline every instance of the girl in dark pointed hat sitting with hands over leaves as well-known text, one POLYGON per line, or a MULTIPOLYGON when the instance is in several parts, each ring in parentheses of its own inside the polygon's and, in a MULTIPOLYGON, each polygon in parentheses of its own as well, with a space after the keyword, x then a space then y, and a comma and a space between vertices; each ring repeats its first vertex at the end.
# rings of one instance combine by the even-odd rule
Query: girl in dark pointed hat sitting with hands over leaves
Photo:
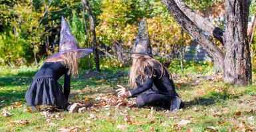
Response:
POLYGON ((137 38, 132 49, 132 67, 129 73, 129 86, 135 88, 126 90, 123 86, 116 92, 118 96, 136 97, 136 104, 156 106, 178 110, 184 107, 176 93, 172 76, 168 69, 152 57, 152 49, 148 35, 146 20, 142 19, 137 38))

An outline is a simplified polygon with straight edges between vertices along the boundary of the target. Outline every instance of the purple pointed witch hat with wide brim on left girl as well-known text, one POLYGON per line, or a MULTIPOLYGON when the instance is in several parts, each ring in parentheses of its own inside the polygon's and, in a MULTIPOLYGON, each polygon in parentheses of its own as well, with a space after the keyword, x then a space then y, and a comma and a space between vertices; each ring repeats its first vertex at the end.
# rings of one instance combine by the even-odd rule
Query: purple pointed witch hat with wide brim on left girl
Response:
POLYGON ((71 51, 79 51, 80 57, 84 57, 85 55, 88 55, 92 53, 93 49, 87 48, 87 49, 81 49, 76 42, 76 39, 74 36, 72 36, 72 33, 68 27, 68 24, 66 23, 66 20, 63 16, 61 16, 61 34, 60 34, 60 43, 59 43, 59 52, 51 55, 49 58, 52 57, 59 57, 59 55, 62 55, 63 53, 71 52, 71 51))

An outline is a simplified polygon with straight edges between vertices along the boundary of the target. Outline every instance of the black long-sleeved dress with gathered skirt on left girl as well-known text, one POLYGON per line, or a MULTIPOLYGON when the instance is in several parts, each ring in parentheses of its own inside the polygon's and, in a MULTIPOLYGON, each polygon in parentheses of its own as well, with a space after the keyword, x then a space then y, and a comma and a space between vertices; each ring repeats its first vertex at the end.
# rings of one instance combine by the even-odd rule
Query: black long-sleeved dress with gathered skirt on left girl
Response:
POLYGON ((64 107, 70 93, 70 75, 61 62, 44 63, 35 75, 31 86, 26 92, 27 106, 57 105, 64 107), (64 75, 64 93, 57 81, 64 75))

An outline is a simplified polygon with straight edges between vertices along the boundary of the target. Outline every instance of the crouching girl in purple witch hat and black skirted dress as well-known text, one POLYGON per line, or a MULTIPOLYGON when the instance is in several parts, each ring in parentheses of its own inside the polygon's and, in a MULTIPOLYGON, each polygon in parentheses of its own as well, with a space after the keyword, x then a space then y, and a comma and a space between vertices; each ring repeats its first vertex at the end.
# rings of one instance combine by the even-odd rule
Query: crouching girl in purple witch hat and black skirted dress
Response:
POLYGON ((78 75, 78 61, 92 53, 92 49, 80 49, 68 24, 62 17, 59 52, 51 55, 35 75, 26 92, 27 106, 34 112, 36 105, 56 105, 66 110, 69 106, 70 76, 78 75), (64 90, 57 81, 64 75, 64 90))

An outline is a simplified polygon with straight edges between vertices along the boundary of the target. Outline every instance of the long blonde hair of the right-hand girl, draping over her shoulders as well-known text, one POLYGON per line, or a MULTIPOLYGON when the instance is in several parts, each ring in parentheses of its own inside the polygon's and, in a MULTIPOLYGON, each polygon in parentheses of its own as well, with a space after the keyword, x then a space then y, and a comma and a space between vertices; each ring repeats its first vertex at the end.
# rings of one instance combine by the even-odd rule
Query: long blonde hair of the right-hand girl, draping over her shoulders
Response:
POLYGON ((166 74, 169 74, 170 79, 172 75, 164 65, 158 60, 148 55, 132 55, 132 67, 129 71, 128 85, 132 88, 136 88, 136 79, 139 78, 139 82, 144 82, 145 79, 156 77, 156 73, 160 73, 159 79, 166 74))

